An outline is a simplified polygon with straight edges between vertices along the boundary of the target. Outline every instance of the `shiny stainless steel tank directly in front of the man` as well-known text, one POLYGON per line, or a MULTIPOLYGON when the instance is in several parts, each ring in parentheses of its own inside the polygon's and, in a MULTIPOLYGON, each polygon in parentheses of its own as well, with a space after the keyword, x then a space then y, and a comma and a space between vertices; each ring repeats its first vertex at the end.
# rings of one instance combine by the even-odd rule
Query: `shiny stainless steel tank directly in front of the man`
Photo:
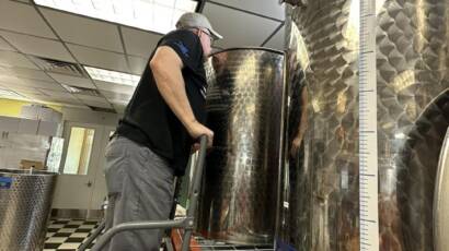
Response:
POLYGON ((231 243, 273 243, 285 117, 284 55, 229 49, 207 68, 207 156, 197 230, 231 243))

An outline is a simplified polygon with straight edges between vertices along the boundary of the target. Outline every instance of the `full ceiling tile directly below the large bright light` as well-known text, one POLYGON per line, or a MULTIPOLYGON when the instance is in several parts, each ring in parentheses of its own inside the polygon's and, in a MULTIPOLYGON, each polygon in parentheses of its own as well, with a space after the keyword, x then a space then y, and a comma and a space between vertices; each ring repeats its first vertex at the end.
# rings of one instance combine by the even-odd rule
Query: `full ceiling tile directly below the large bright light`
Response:
POLYGON ((117 25, 39 8, 65 41, 124 52, 117 25))

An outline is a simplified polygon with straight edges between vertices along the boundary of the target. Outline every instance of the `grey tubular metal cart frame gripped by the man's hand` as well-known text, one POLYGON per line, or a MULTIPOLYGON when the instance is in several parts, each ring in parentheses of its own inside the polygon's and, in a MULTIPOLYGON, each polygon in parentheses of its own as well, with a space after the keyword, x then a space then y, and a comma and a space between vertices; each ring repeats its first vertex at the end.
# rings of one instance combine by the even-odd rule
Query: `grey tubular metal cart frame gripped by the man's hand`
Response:
MULTIPOLYGON (((170 220, 151 220, 151 222, 131 222, 119 224, 108 230, 106 230, 100 239, 96 241, 95 246, 92 248, 92 251, 100 251, 116 234, 127 230, 142 230, 142 229, 171 229, 171 228, 182 228, 184 229, 182 251, 188 251, 192 231, 195 224, 195 211, 198 202, 198 193, 202 183, 203 168, 206 157, 207 150, 207 136, 202 135, 199 138, 200 146, 198 159, 195 165, 195 170, 192 179, 192 190, 188 195, 188 205, 186 217, 180 219, 170 219, 170 220)), ((91 237, 80 246, 79 251, 85 251, 85 249, 93 242, 93 240, 101 235, 104 229, 104 220, 99 226, 99 228, 91 235, 91 237)))

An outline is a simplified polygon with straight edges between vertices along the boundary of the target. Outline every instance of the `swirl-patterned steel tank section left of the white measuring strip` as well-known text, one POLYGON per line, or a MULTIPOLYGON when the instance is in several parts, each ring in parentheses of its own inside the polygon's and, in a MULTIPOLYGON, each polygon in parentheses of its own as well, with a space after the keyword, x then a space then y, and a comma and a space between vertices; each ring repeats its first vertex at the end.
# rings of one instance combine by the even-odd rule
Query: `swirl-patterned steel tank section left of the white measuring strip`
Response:
POLYGON ((358 250, 358 1, 307 2, 288 8, 289 153, 277 247, 358 250))

